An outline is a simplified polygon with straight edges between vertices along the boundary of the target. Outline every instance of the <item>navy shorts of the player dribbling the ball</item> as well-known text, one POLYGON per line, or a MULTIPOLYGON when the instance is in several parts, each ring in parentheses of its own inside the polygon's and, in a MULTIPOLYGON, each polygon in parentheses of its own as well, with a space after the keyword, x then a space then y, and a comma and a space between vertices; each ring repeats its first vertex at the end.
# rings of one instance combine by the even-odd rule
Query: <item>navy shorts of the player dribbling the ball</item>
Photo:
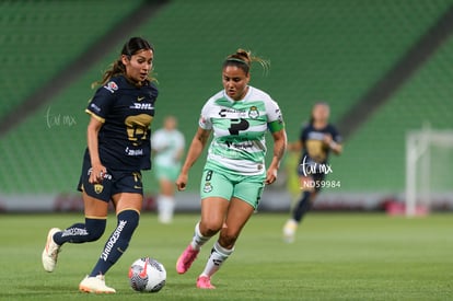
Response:
POLYGON ((115 171, 109 170, 100 184, 89 182, 91 174, 90 158, 84 157, 82 174, 78 185, 79 192, 85 192, 86 195, 108 202, 112 197, 119 193, 132 193, 143 195, 143 185, 141 182, 141 172, 115 171))

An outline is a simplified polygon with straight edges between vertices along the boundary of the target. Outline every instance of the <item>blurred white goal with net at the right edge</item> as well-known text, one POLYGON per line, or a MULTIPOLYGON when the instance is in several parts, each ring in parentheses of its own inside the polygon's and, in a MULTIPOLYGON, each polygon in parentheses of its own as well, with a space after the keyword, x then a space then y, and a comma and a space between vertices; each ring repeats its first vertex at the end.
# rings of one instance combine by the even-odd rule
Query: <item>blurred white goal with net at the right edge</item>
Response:
POLYGON ((406 135, 406 216, 431 209, 435 200, 453 197, 453 130, 406 135))

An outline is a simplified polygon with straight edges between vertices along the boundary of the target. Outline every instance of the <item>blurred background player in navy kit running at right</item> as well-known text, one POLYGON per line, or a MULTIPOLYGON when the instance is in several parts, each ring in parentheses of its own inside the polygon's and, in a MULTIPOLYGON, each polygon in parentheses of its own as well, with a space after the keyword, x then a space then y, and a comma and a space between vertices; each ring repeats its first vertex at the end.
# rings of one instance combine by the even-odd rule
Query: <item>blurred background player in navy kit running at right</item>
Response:
POLYGON ((322 188, 330 151, 335 154, 342 151, 341 137, 335 126, 328 123, 329 115, 327 103, 316 103, 310 123, 302 128, 299 141, 288 144, 289 151, 302 151, 298 166, 302 196, 293 209, 292 218, 284 224, 283 236, 287 242, 294 241, 299 223, 322 188))

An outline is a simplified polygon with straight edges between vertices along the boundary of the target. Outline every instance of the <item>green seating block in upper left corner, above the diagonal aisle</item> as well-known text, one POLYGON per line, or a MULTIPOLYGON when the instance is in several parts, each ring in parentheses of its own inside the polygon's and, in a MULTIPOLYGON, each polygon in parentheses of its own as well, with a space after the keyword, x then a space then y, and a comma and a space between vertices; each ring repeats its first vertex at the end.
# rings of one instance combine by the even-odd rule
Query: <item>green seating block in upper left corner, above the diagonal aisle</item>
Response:
MULTIPOLYGON (((1 1, 0 117, 47 83, 141 1, 1 1)), ((67 70, 71 72, 71 70, 67 70)))

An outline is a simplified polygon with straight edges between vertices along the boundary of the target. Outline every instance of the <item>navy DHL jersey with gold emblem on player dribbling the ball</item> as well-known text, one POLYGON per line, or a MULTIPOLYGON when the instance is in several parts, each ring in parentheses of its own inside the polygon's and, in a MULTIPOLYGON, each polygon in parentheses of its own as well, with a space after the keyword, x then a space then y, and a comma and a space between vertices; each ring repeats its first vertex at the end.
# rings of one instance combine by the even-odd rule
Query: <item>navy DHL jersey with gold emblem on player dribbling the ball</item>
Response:
POLYGON ((151 169, 150 125, 156 97, 158 89, 152 83, 137 88, 124 76, 97 89, 86 113, 103 123, 98 151, 107 170, 151 169))

